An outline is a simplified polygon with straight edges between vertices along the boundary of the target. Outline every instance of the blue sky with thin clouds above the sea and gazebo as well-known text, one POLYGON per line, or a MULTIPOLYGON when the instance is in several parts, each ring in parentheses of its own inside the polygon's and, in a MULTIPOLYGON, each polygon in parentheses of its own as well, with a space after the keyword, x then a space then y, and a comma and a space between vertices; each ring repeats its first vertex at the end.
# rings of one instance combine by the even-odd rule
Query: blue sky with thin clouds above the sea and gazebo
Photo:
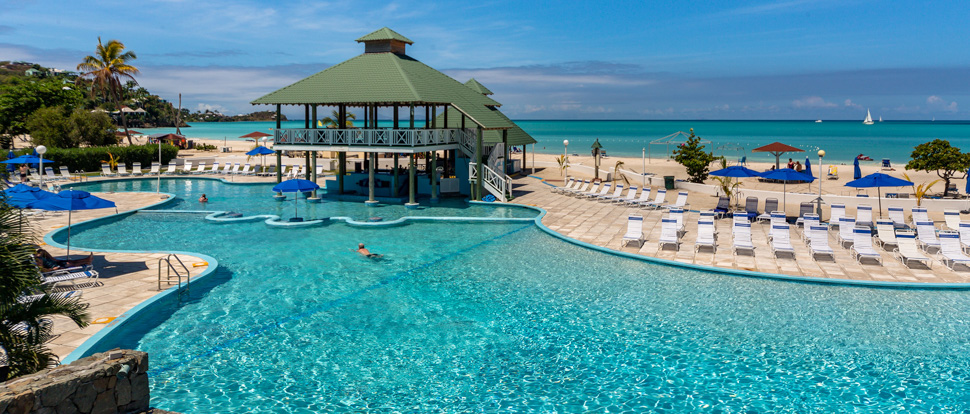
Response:
MULTIPOLYGON (((475 77, 515 119, 970 119, 961 1, 0 0, 0 60, 74 69, 97 37, 138 81, 224 113, 363 51, 475 77)), ((302 117, 301 111, 290 115, 302 117)))

